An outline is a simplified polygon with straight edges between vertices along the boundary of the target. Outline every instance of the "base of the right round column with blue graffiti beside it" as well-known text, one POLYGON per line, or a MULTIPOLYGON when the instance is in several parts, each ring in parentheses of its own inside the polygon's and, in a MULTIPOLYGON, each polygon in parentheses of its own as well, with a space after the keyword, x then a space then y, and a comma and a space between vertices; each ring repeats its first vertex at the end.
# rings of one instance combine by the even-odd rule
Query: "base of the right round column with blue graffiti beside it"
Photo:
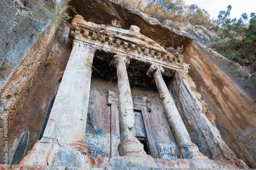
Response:
POLYGON ((194 143, 185 145, 179 149, 185 159, 209 159, 207 156, 204 156, 201 152, 199 152, 197 145, 194 143))

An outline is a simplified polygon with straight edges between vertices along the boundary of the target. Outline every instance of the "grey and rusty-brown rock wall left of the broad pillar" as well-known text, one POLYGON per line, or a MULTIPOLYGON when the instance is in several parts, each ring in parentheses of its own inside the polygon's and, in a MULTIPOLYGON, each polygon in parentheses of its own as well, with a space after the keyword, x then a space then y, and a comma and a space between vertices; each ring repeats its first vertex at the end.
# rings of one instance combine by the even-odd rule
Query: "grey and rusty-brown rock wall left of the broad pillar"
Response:
MULTIPOLYGON (((22 10, 19 1, 0 3, 3 23, 0 26, 0 63, 7 60, 11 65, 11 69, 4 72, 5 77, 0 78, 0 154, 1 157, 8 154, 8 163, 17 163, 38 140, 65 70, 71 44, 69 27, 66 31, 59 30, 56 37, 57 29, 48 21, 43 33, 38 33, 32 24, 31 11, 22 10), (5 138, 8 138, 7 143, 3 143, 5 138)), ((4 164, 3 161, 1 159, 0 163, 4 164)))

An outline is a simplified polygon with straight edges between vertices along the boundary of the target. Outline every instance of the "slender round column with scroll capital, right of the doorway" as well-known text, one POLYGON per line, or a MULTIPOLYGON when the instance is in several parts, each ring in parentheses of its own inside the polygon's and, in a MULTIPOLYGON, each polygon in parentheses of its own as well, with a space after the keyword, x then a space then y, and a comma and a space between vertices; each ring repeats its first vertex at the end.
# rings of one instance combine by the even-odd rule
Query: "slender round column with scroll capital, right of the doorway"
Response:
POLYGON ((147 71, 147 76, 154 76, 160 98, 163 101, 164 111, 182 156, 186 159, 208 159, 199 152, 196 144, 192 143, 174 100, 162 78, 163 72, 164 69, 161 66, 151 65, 147 71))

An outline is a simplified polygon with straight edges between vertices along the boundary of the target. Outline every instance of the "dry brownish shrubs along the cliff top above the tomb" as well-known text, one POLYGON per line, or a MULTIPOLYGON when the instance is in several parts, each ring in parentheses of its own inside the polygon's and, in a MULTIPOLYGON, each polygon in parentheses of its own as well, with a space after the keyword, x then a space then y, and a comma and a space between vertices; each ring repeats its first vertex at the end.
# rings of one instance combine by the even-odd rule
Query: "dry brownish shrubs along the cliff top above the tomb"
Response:
POLYGON ((197 5, 186 6, 183 0, 113 0, 125 8, 139 9, 148 16, 163 22, 165 19, 172 20, 174 26, 179 23, 202 25, 207 28, 213 27, 207 11, 197 5))

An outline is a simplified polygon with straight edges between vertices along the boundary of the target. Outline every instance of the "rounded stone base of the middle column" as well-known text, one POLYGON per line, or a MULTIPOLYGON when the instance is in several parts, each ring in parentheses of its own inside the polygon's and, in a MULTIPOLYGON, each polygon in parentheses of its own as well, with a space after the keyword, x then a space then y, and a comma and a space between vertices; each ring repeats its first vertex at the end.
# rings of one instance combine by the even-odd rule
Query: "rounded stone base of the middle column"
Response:
POLYGON ((136 139, 127 139, 118 144, 120 156, 129 157, 148 157, 149 155, 143 150, 143 145, 136 139))

